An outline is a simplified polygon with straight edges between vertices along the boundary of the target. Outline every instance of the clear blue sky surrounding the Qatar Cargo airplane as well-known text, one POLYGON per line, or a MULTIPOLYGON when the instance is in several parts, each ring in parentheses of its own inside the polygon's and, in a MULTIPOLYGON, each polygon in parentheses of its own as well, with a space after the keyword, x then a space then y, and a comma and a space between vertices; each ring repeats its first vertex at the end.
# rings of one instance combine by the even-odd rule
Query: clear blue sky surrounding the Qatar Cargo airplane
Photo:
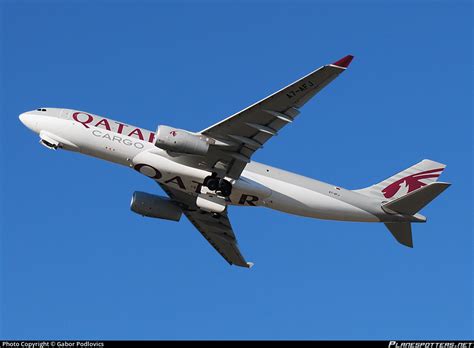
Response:
POLYGON ((472 4, 25 2, 0 17, 1 338, 473 338, 472 4), (38 144, 18 114, 198 131, 355 55, 254 159, 347 188, 423 158, 453 185, 414 226, 231 208, 251 270, 142 218, 136 172, 38 144))

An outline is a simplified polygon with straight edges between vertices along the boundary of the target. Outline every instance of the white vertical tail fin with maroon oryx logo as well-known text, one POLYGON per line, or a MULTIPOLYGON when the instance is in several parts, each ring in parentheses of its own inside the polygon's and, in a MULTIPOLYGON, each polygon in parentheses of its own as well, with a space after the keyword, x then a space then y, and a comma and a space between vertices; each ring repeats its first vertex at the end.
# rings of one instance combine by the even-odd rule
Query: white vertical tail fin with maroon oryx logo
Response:
POLYGON ((355 190, 355 192, 378 198, 381 201, 395 200, 435 182, 444 168, 446 168, 445 164, 425 159, 378 184, 355 190))

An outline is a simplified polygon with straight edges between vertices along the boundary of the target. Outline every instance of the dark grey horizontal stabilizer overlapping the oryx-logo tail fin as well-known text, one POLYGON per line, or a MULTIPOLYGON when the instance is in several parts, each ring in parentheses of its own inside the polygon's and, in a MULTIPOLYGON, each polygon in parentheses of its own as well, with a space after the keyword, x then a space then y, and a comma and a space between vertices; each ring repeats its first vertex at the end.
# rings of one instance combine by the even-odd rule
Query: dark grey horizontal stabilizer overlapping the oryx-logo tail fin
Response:
POLYGON ((451 184, 447 182, 433 182, 431 184, 428 184, 426 186, 419 188, 416 191, 410 192, 409 194, 405 196, 402 196, 391 202, 388 202, 384 204, 382 207, 388 208, 397 213, 413 215, 413 214, 416 214, 418 211, 420 211, 425 205, 427 205, 433 199, 435 199, 441 192, 446 190, 450 185, 451 184))

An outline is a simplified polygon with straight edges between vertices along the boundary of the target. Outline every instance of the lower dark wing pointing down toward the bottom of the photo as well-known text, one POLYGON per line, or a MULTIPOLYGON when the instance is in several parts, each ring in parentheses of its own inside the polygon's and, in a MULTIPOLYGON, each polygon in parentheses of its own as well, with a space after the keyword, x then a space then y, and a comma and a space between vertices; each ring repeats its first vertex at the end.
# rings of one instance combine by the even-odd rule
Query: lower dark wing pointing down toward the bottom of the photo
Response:
POLYGON ((166 185, 160 186, 171 199, 178 202, 184 215, 229 264, 247 268, 253 266, 251 262, 246 262, 240 253, 227 211, 215 218, 196 206, 196 196, 166 185))

